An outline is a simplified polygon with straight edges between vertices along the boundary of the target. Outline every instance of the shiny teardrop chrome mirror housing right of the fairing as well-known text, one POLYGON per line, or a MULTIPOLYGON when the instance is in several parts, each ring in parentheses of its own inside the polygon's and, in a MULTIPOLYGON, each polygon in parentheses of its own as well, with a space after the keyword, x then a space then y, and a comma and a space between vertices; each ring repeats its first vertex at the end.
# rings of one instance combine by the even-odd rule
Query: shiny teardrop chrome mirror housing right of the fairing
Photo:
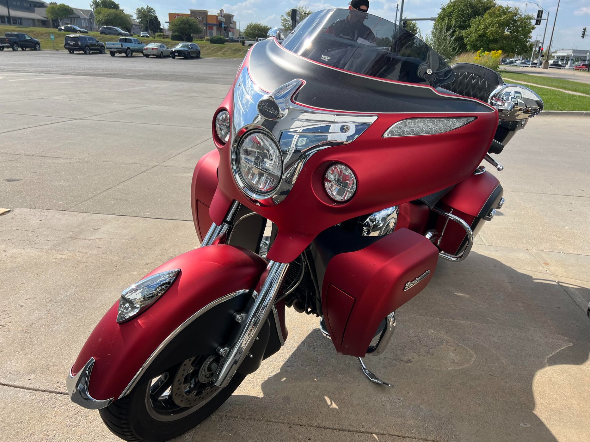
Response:
POLYGON ((498 111, 500 120, 519 121, 536 116, 543 111, 543 100, 527 87, 503 84, 490 94, 488 101, 498 111))

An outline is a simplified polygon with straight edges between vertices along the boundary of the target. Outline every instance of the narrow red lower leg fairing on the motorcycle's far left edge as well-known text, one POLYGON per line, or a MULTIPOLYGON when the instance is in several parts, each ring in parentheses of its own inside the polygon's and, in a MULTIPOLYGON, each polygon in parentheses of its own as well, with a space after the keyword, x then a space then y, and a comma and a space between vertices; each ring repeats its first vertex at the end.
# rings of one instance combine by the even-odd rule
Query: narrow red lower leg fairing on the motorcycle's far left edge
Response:
POLYGON ((209 206, 217 189, 217 166, 219 153, 212 150, 201 157, 196 163, 192 174, 191 184, 191 209, 192 220, 195 223, 196 235, 202 241, 211 227, 209 206))

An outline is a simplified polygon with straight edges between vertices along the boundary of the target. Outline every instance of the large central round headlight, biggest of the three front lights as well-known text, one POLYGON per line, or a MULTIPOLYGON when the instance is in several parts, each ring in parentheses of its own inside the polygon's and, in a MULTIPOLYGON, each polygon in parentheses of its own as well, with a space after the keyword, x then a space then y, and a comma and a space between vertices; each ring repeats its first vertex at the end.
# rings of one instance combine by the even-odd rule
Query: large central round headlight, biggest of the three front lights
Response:
POLYGON ((255 194, 269 194, 283 175, 283 156, 273 138, 261 132, 245 137, 237 152, 238 173, 255 194))

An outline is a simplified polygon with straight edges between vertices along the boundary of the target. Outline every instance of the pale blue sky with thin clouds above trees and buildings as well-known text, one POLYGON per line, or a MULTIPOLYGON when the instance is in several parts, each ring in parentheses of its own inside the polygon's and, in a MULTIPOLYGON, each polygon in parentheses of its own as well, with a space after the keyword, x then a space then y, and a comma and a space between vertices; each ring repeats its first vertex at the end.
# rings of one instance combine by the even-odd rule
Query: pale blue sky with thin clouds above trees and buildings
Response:
MULTIPOLYGON (((168 21, 168 12, 189 12, 189 9, 208 9, 209 14, 217 14, 219 9, 234 14, 238 27, 243 29, 250 22, 261 22, 274 27, 280 26, 280 16, 287 10, 298 5, 307 6, 312 11, 319 11, 326 8, 348 8, 349 0, 163 0, 150 1, 149 5, 156 9, 156 14, 162 25, 168 21)), ((397 0, 370 0, 369 12, 394 21, 397 0)), ((65 1, 75 8, 89 8, 90 0, 65 1)), ((412 17, 436 17, 440 8, 447 0, 406 0, 404 3, 404 16, 412 17)), ((121 7, 135 16, 135 9, 144 6, 145 2, 139 0, 121 0, 121 7)), ((497 0, 498 4, 516 6, 522 11, 536 16, 539 9, 536 5, 526 1, 503 1, 497 0)), ((549 38, 553 27, 553 19, 557 9, 558 0, 539 0, 537 3, 549 11, 549 25, 545 37, 545 47, 549 46, 549 38)), ((545 14, 544 14, 545 15, 545 14)), ((432 29, 431 21, 418 21, 418 27, 422 37, 428 35, 432 29)), ((561 0, 559 13, 555 24, 552 49, 575 49, 589 50, 590 37, 582 39, 582 28, 588 27, 590 31, 590 2, 588 0, 561 0)), ((543 39, 545 21, 533 31, 532 39, 543 39)), ((589 34, 590 35, 590 34, 589 34)))

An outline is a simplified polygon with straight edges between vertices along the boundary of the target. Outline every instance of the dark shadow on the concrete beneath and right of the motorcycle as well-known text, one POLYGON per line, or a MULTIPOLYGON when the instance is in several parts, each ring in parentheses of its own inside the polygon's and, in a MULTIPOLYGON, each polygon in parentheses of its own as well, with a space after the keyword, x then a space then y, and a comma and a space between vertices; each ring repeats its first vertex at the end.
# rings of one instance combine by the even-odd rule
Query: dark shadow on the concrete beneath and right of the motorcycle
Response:
MULTIPOLYGON (((429 288, 399 309, 385 354, 365 358, 394 387, 371 384, 356 358, 336 355, 313 329, 280 371, 263 381, 263 397, 234 395, 212 419, 240 418, 236 425, 244 440, 257 431, 245 423, 257 421, 309 425, 310 434, 313 427, 374 434, 376 440, 581 440, 588 430, 584 401, 559 391, 551 377, 536 376, 555 365, 586 362, 588 322, 542 275, 474 252, 459 265, 440 263, 429 288), (549 428, 537 415, 567 428, 549 428)), ((566 381, 575 390, 584 377, 566 381)), ((291 437, 281 425, 266 425, 259 440, 291 437)))

